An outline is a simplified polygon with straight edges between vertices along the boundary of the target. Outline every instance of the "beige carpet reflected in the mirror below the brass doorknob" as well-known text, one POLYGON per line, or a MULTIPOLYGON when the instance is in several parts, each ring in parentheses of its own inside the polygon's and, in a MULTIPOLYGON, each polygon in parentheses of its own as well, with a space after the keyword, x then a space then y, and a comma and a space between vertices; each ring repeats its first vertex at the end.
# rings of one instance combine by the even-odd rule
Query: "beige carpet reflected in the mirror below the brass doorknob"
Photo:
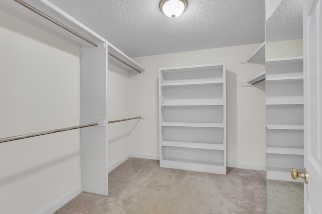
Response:
POLYGON ((267 180, 267 214, 304 213, 304 184, 267 180))

